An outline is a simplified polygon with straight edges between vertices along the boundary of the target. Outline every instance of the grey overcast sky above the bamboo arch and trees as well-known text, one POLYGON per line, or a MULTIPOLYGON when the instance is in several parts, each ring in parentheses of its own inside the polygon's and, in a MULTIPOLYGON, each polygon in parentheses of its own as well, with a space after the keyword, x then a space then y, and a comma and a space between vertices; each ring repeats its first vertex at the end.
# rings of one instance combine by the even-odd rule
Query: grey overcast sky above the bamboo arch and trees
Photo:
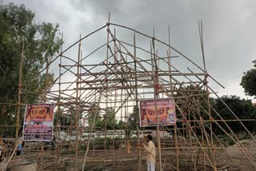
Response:
MULTIPOLYGON (((130 26, 171 44, 190 57, 200 58, 198 20, 202 20, 206 70, 226 89, 213 85, 219 95, 244 97, 239 85, 243 72, 256 58, 256 1, 149 1, 149 0, 3 0, 25 4, 37 22, 53 22, 64 33, 65 46, 103 26, 108 12, 111 22, 130 26)), ((64 46, 64 48, 65 48, 64 46)), ((201 65, 202 66, 202 65, 201 65)), ((248 97, 252 98, 252 97, 248 97)))

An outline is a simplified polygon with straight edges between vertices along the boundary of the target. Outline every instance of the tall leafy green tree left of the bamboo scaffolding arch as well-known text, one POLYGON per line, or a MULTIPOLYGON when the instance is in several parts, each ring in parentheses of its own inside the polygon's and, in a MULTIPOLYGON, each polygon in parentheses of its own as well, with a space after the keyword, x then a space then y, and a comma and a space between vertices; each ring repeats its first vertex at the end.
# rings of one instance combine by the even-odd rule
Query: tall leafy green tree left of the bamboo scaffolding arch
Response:
MULTIPOLYGON (((37 102, 38 94, 46 88, 46 78, 48 81, 53 78, 53 74, 46 76, 38 73, 46 66, 46 59, 52 58, 60 49, 62 41, 59 38, 58 25, 47 22, 35 24, 34 16, 24 5, 0 3, 0 102, 17 102, 23 42, 22 103, 37 102)), ((7 120, 0 119, 0 125, 14 124, 15 108, 4 105, 1 108, 1 117, 7 120)), ((22 106, 21 112, 24 110, 22 106)))

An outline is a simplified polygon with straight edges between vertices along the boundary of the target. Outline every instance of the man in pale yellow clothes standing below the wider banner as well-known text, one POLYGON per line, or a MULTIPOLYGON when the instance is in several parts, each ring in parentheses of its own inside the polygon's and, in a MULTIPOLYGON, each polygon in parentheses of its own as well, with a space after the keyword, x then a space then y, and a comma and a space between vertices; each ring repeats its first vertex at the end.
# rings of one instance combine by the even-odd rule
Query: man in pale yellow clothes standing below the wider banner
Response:
POLYGON ((152 141, 153 137, 148 134, 147 135, 147 142, 148 145, 142 144, 144 149, 146 149, 146 164, 148 171, 154 171, 154 164, 155 164, 155 146, 152 141))

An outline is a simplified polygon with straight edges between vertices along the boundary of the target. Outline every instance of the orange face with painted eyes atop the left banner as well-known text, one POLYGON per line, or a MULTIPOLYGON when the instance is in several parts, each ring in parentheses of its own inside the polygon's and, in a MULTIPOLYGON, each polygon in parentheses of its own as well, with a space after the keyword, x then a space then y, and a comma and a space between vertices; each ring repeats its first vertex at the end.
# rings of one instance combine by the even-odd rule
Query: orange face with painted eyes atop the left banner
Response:
POLYGON ((26 121, 52 121, 53 111, 50 107, 32 106, 26 111, 26 121))

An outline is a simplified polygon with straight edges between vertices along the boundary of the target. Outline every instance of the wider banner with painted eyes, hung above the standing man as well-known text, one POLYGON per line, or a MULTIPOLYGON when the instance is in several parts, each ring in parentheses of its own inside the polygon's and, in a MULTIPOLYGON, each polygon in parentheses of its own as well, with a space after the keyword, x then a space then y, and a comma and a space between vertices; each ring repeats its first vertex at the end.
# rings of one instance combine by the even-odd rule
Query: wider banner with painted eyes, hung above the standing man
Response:
POLYGON ((176 123, 173 98, 140 101, 140 126, 174 125, 176 123), (157 122, 157 117, 158 121, 157 122))

